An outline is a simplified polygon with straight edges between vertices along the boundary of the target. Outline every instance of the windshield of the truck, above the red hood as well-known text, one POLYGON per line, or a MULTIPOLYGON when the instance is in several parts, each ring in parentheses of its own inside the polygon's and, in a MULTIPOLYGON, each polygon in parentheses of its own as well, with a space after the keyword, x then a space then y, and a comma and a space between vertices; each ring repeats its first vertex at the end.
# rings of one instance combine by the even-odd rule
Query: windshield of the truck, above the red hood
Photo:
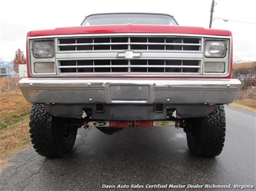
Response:
POLYGON ((177 25, 177 22, 167 14, 92 14, 86 17, 81 25, 109 24, 177 25))

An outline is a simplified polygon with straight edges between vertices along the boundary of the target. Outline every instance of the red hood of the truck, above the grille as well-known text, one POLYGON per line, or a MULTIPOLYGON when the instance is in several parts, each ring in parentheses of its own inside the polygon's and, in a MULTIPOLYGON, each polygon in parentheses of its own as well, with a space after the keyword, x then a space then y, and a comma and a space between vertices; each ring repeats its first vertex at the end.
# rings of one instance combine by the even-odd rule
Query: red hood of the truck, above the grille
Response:
POLYGON ((231 36, 231 32, 219 29, 204 29, 203 27, 183 27, 165 25, 104 25, 63 27, 50 30, 38 30, 27 33, 28 37, 64 35, 64 34, 102 34, 102 33, 171 33, 231 36))

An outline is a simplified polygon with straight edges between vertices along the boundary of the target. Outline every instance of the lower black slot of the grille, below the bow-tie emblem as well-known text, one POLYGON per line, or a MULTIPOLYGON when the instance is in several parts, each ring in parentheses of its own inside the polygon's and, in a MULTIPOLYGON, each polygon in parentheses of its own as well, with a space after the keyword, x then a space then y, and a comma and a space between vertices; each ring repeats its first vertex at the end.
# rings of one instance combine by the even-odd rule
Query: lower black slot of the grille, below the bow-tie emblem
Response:
POLYGON ((61 60, 59 73, 200 73, 200 60, 61 60))

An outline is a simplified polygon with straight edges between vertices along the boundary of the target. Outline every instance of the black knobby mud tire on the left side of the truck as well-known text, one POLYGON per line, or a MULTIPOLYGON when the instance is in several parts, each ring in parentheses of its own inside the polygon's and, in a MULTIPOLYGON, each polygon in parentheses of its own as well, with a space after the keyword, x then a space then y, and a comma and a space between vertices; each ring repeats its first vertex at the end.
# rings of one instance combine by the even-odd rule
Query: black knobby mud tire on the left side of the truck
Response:
POLYGON ((34 103, 30 113, 30 138, 35 151, 48 158, 64 157, 74 146, 77 129, 69 119, 56 118, 45 111, 43 104, 34 103))

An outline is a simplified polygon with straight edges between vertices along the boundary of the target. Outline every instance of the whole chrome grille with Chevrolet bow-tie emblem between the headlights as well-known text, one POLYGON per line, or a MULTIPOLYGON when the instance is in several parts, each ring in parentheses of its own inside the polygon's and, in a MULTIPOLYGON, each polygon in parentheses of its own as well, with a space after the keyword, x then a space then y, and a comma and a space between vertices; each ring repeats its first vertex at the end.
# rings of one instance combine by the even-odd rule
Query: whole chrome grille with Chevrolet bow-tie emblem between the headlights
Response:
POLYGON ((202 37, 114 34, 61 37, 56 42, 58 74, 202 74, 202 37), (140 56, 125 56, 128 52, 140 56))

